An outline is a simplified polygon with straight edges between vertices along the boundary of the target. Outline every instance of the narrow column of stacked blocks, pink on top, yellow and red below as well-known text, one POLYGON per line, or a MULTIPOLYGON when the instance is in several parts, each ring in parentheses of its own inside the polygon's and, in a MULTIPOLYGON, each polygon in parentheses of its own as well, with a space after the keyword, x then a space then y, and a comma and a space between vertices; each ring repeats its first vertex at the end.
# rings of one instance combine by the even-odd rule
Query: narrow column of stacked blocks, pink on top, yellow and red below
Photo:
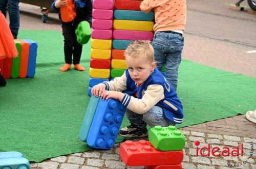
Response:
POLYGON ((89 95, 91 88, 109 81, 114 0, 94 0, 89 95))

